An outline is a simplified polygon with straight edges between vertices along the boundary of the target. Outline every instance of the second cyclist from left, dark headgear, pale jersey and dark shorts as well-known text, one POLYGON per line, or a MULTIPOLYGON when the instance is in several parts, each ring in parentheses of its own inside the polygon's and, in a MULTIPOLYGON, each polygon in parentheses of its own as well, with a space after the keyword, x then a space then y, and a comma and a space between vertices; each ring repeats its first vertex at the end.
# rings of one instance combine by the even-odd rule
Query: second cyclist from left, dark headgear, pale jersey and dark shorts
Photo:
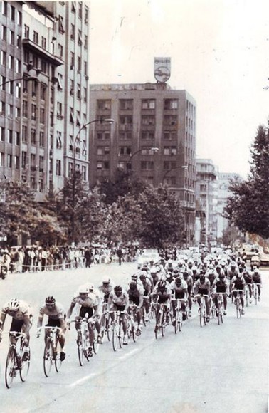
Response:
MULTIPOLYGON (((48 296, 45 300, 45 305, 43 305, 39 310, 38 324, 37 328, 40 328, 43 323, 44 315, 48 315, 48 323, 46 327, 59 327, 58 338, 61 347, 60 361, 65 360, 65 310, 63 305, 56 303, 56 299, 53 296, 48 296)), ((45 343, 47 340, 48 330, 45 330, 45 343)), ((40 331, 36 333, 36 337, 40 336, 40 331)))

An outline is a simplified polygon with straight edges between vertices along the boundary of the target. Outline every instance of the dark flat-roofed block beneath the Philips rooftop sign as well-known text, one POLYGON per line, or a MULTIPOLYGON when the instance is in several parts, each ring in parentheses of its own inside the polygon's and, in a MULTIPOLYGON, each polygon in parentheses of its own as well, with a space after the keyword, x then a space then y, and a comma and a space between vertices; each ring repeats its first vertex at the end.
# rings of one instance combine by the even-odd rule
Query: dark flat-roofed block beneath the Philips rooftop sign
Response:
POLYGON ((194 240, 196 103, 166 83, 90 85, 90 185, 132 169, 176 192, 186 212, 186 242, 194 240))

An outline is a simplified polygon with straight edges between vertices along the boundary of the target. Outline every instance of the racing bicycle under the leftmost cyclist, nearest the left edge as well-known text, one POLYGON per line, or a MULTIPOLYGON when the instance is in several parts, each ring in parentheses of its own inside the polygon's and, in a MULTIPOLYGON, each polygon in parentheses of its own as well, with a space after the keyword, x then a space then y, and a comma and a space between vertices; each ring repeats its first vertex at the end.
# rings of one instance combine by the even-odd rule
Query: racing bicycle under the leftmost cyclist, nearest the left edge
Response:
POLYGON ((4 332, 14 338, 15 343, 9 343, 9 351, 6 356, 5 382, 8 389, 11 388, 16 372, 19 370, 19 375, 22 382, 26 381, 30 368, 30 347, 26 347, 24 338, 25 333, 17 331, 4 332), (28 350, 27 360, 23 360, 24 353, 28 350))

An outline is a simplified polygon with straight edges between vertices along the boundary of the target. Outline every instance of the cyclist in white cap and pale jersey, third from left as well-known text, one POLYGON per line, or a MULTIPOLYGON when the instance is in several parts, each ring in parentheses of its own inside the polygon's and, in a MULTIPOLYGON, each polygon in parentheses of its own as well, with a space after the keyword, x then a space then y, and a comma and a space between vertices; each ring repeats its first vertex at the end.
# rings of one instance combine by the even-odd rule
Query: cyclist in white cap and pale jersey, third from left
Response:
POLYGON ((93 342, 95 340, 95 332, 94 329, 91 328, 91 322, 95 322, 95 328, 97 330, 97 342, 102 343, 102 338, 100 336, 100 323, 97 320, 98 316, 100 315, 100 308, 98 305, 98 298, 93 293, 93 291, 89 290, 87 284, 84 286, 79 286, 78 292, 74 294, 73 299, 70 303, 70 307, 68 308, 67 312, 67 324, 70 323, 70 317, 72 315, 73 309, 75 305, 80 305, 80 313, 78 316, 75 317, 75 329, 78 330, 80 328, 80 320, 88 314, 88 329, 89 329, 89 338, 90 338, 90 347, 88 349, 89 357, 93 357, 93 342))

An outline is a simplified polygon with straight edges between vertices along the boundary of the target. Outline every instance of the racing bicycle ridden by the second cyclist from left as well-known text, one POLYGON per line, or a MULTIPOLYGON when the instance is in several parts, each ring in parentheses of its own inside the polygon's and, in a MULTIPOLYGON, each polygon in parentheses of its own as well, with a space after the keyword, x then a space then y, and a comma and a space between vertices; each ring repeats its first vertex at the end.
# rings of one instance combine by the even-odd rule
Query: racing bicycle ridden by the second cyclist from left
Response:
POLYGON ((58 331, 61 330, 61 328, 46 325, 44 327, 39 327, 38 332, 41 329, 48 330, 43 354, 43 370, 45 376, 48 377, 53 364, 56 372, 60 372, 60 366, 62 365, 62 362, 60 361, 61 348, 58 336, 58 331))

